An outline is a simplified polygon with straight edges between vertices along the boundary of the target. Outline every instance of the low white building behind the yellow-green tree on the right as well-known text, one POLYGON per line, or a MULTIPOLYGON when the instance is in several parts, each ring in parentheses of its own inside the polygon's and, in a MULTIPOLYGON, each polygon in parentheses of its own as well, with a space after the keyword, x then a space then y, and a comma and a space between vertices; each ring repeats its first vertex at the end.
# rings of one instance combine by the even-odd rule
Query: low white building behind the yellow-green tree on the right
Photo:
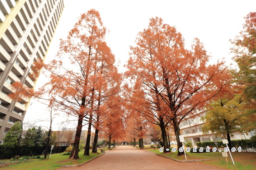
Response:
MULTIPOLYGON (((203 135, 201 127, 204 125, 204 122, 201 120, 201 117, 205 113, 206 111, 198 113, 196 114, 195 118, 187 117, 180 123, 181 135, 184 137, 185 140, 191 141, 193 145, 196 145, 196 142, 213 141, 214 138, 217 138, 217 141, 222 140, 222 137, 216 137, 215 134, 211 132, 209 132, 207 135, 203 135)), ((251 131, 248 135, 234 132, 234 136, 230 138, 231 140, 249 139, 254 136, 254 132, 255 131, 251 131)))

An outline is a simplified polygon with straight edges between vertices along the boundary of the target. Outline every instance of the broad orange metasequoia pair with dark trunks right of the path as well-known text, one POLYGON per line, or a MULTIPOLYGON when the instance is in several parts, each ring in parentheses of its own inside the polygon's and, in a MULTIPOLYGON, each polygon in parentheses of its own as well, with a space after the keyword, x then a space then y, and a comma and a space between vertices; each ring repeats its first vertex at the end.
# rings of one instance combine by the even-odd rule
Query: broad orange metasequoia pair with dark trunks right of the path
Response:
POLYGON ((137 96, 154 105, 152 109, 144 104, 154 113, 147 116, 153 119, 159 115, 164 150, 169 148, 165 119, 174 126, 180 148, 180 121, 202 110, 208 100, 224 91, 229 80, 224 62, 209 64, 210 56, 196 38, 192 49, 187 50, 181 33, 158 17, 151 18, 148 29, 139 32, 136 44, 130 47, 126 75, 133 79, 132 83, 138 82, 142 91, 134 88, 133 92, 144 93, 137 96))

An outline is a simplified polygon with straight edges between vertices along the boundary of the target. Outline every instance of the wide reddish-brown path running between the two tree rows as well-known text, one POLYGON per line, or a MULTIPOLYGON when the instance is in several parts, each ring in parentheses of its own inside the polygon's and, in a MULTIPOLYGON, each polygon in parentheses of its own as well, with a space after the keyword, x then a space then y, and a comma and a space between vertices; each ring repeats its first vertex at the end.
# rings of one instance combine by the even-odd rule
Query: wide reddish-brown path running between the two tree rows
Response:
POLYGON ((58 170, 216 170, 196 162, 179 163, 160 157, 153 152, 132 146, 118 146, 104 155, 79 167, 60 168, 58 170))

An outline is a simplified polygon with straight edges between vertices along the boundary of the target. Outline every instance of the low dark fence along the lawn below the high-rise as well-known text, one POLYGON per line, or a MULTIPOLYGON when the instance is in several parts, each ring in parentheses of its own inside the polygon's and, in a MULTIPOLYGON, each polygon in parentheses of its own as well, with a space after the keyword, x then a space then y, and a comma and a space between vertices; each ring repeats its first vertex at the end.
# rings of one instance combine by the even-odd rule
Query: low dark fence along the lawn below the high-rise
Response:
MULTIPOLYGON (((66 150, 67 146, 57 146, 53 147, 53 153, 62 153, 66 150)), ((20 148, 0 148, 0 159, 10 159, 19 155, 23 156, 34 156, 42 155, 46 147, 20 147, 20 148)), ((48 154, 50 154, 51 147, 48 147, 48 154)))

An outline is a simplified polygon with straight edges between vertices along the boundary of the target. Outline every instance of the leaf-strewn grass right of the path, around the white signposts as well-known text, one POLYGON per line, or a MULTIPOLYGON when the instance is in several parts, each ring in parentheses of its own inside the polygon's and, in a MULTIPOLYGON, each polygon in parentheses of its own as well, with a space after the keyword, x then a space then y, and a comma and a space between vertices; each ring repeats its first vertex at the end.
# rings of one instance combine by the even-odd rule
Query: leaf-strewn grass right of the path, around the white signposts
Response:
MULTIPOLYGON (((162 153, 159 149, 145 148, 146 150, 155 152, 166 157, 171 157, 177 160, 186 160, 185 155, 177 156, 176 152, 162 153)), ((226 163, 225 157, 220 152, 207 152, 207 153, 190 153, 186 152, 187 159, 216 159, 216 160, 204 160, 198 163, 214 166, 217 168, 230 169, 230 170, 255 170, 256 168, 256 153, 245 153, 245 152, 231 152, 235 165, 231 160, 228 153, 228 164, 226 163)))

